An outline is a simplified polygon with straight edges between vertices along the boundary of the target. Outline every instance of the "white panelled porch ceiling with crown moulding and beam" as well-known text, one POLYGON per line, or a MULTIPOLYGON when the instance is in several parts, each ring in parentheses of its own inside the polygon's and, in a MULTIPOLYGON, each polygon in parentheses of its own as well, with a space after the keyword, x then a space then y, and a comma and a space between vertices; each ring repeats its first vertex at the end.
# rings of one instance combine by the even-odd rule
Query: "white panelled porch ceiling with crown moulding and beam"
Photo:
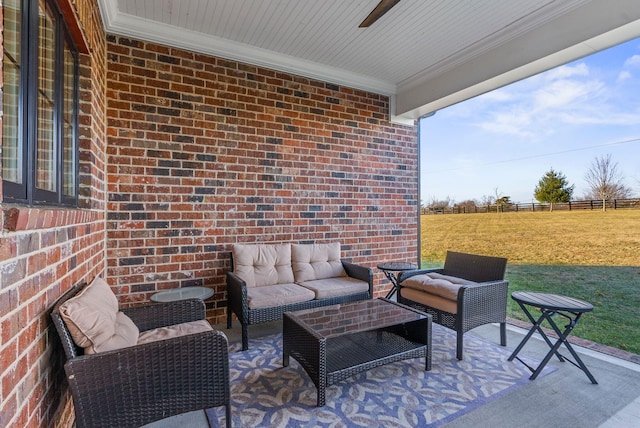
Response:
POLYGON ((109 33, 392 97, 400 122, 640 36, 638 0, 99 0, 109 33))

